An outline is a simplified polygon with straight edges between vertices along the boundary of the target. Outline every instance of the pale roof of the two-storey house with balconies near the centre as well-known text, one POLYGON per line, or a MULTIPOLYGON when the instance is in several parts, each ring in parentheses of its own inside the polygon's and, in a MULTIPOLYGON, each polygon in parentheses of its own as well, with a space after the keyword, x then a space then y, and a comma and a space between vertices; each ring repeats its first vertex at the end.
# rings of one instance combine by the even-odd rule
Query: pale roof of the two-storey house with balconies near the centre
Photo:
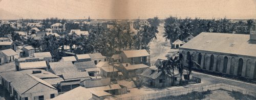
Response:
POLYGON ((127 58, 150 56, 150 54, 145 49, 142 49, 142 50, 127 50, 127 51, 123 51, 123 53, 127 56, 127 58))

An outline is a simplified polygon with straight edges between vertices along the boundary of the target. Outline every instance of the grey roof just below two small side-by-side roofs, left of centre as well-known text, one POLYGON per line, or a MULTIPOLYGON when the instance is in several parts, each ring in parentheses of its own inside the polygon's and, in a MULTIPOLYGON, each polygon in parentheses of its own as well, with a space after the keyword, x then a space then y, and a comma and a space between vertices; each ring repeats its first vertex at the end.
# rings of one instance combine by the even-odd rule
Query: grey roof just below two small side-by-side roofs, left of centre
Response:
POLYGON ((94 61, 75 62, 74 66, 78 70, 89 69, 89 68, 96 68, 96 65, 95 65, 94 61))

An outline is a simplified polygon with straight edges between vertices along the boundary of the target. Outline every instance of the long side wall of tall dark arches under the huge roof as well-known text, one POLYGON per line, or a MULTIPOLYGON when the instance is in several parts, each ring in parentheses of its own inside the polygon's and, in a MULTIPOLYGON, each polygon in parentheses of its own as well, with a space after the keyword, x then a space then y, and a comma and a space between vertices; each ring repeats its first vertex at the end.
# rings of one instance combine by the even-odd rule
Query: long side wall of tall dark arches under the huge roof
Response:
POLYGON ((184 59, 192 57, 200 64, 202 70, 256 79, 256 57, 200 53, 181 49, 180 55, 183 56, 183 65, 187 65, 184 59))

